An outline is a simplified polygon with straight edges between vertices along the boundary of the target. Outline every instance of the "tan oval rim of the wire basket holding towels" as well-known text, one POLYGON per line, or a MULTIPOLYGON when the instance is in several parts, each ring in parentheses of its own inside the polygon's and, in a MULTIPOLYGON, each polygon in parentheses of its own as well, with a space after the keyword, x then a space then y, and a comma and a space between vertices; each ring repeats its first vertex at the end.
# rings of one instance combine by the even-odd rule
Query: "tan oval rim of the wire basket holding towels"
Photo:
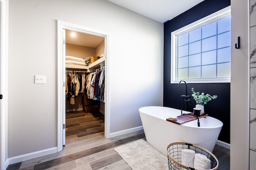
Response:
MULTIPOLYGON (((190 144, 190 143, 185 143, 185 142, 174 142, 174 143, 170 143, 170 144, 167 146, 167 149, 168 149, 170 146, 172 146, 172 145, 178 145, 178 144, 180 144, 180 145, 190 145, 190 146, 192 146, 192 147, 196 147, 196 148, 199 148, 199 149, 204 150, 205 152, 207 152, 208 154, 210 154, 210 155, 216 160, 216 162, 217 162, 217 165, 216 165, 214 168, 210 169, 210 170, 217 170, 217 169, 218 169, 219 161, 218 161, 218 159, 216 158, 216 156, 215 156, 214 154, 212 154, 212 152, 210 152, 209 150, 207 150, 207 149, 205 149, 205 148, 203 148, 203 147, 200 147, 200 146, 198 146, 198 145, 196 145, 196 144, 190 144)), ((183 168, 186 168, 186 169, 188 169, 188 170, 190 169, 190 167, 185 166, 185 165, 181 164, 180 162, 177 162, 176 160, 174 160, 174 158, 172 158, 172 156, 170 156, 170 154, 168 153, 168 150, 166 150, 166 152, 167 152, 168 157, 169 157, 174 163, 176 163, 176 164, 178 164, 179 166, 182 166, 183 168)), ((197 169, 194 169, 194 170, 197 170, 197 169)))

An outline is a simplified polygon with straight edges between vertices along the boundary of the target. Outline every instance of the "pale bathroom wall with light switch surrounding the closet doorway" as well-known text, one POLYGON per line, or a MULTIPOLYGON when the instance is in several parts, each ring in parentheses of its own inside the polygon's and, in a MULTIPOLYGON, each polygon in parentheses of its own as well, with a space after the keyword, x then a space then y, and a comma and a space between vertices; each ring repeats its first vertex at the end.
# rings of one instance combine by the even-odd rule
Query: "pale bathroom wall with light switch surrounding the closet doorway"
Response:
POLYGON ((9 0, 8 157, 57 146, 57 22, 110 33, 110 133, 162 106, 163 24, 105 0, 9 0), (46 75, 46 84, 34 84, 46 75), (124 121, 125 120, 125 121, 124 121))

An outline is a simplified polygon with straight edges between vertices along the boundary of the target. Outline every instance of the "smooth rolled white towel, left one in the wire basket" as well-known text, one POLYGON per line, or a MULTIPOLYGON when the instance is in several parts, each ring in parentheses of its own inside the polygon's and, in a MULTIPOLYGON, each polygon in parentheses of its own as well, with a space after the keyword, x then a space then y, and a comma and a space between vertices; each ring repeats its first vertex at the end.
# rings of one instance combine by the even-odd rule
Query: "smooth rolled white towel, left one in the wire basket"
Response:
POLYGON ((195 151, 191 149, 181 150, 181 163, 190 168, 194 167, 195 151))

